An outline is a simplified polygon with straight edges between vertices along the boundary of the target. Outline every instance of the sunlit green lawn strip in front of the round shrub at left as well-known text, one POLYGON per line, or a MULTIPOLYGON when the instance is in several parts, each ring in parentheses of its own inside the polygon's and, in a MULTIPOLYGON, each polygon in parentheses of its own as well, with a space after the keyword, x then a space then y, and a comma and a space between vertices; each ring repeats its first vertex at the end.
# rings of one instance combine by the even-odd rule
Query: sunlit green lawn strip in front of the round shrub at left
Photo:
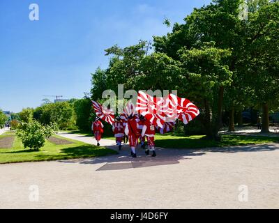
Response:
MULTIPOLYGON (((0 137, 5 136, 0 135, 0 137)), ((0 163, 66 160, 80 157, 97 157, 117 153, 109 148, 92 146, 70 139, 67 140, 73 141, 73 144, 55 145, 50 141, 47 141, 45 146, 40 148, 40 151, 33 151, 29 148, 24 148, 20 139, 16 137, 13 143, 13 148, 0 148, 0 163)))

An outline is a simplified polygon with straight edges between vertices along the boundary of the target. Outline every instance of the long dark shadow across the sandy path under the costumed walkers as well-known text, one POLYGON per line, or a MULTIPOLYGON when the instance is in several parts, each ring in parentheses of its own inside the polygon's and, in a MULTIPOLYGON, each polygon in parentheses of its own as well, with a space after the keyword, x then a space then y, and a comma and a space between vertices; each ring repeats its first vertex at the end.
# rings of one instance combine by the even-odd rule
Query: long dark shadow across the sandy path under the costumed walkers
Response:
MULTIPOLYGON (((117 146, 106 146, 117 150, 117 146)), ((278 144, 261 144, 252 146, 234 146, 226 148, 202 148, 202 149, 177 149, 157 148, 157 156, 146 156, 142 148, 137 148, 137 158, 130 157, 130 148, 123 146, 118 155, 95 157, 79 160, 60 160, 59 162, 80 164, 104 164, 96 171, 119 170, 130 168, 154 167, 160 165, 179 164, 180 160, 190 160, 192 157, 206 155, 206 153, 240 153, 257 151, 274 151, 279 149, 278 144)))

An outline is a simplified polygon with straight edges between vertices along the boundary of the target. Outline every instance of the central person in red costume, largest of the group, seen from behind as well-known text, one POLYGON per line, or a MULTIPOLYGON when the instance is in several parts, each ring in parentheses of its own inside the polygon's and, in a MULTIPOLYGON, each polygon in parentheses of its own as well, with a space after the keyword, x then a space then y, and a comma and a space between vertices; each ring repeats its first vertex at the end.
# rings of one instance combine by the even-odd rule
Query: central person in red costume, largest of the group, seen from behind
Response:
POLYGON ((137 157, 136 152, 135 152, 135 148, 137 147, 138 144, 138 124, 136 121, 136 117, 134 115, 130 115, 128 117, 128 122, 126 124, 126 128, 125 128, 125 133, 126 135, 128 135, 129 137, 129 144, 130 144, 130 148, 131 148, 131 155, 132 157, 137 157))

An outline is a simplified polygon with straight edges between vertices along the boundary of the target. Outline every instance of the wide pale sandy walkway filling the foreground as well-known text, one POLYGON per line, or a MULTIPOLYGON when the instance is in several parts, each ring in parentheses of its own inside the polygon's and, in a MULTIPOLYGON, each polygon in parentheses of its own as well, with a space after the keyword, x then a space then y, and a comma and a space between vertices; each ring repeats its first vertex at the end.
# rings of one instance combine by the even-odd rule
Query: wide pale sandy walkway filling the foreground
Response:
POLYGON ((1 164, 0 208, 279 208, 278 144, 137 151, 136 159, 124 146, 107 157, 1 164))

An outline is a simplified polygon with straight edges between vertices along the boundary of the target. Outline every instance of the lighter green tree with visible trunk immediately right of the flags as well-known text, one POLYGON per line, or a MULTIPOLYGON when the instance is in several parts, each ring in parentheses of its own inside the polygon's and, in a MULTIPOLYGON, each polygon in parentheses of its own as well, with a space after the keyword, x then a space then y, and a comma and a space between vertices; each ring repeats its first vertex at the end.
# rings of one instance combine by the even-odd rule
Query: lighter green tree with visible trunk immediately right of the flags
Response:
POLYGON ((214 43, 205 43, 201 49, 180 49, 183 61, 184 81, 182 89, 190 92, 190 98, 199 102, 204 109, 204 126, 207 136, 220 139, 218 130, 223 109, 223 95, 226 86, 232 82, 232 72, 227 60, 231 52, 214 47, 214 43), (212 116, 211 116, 212 114, 212 116))

